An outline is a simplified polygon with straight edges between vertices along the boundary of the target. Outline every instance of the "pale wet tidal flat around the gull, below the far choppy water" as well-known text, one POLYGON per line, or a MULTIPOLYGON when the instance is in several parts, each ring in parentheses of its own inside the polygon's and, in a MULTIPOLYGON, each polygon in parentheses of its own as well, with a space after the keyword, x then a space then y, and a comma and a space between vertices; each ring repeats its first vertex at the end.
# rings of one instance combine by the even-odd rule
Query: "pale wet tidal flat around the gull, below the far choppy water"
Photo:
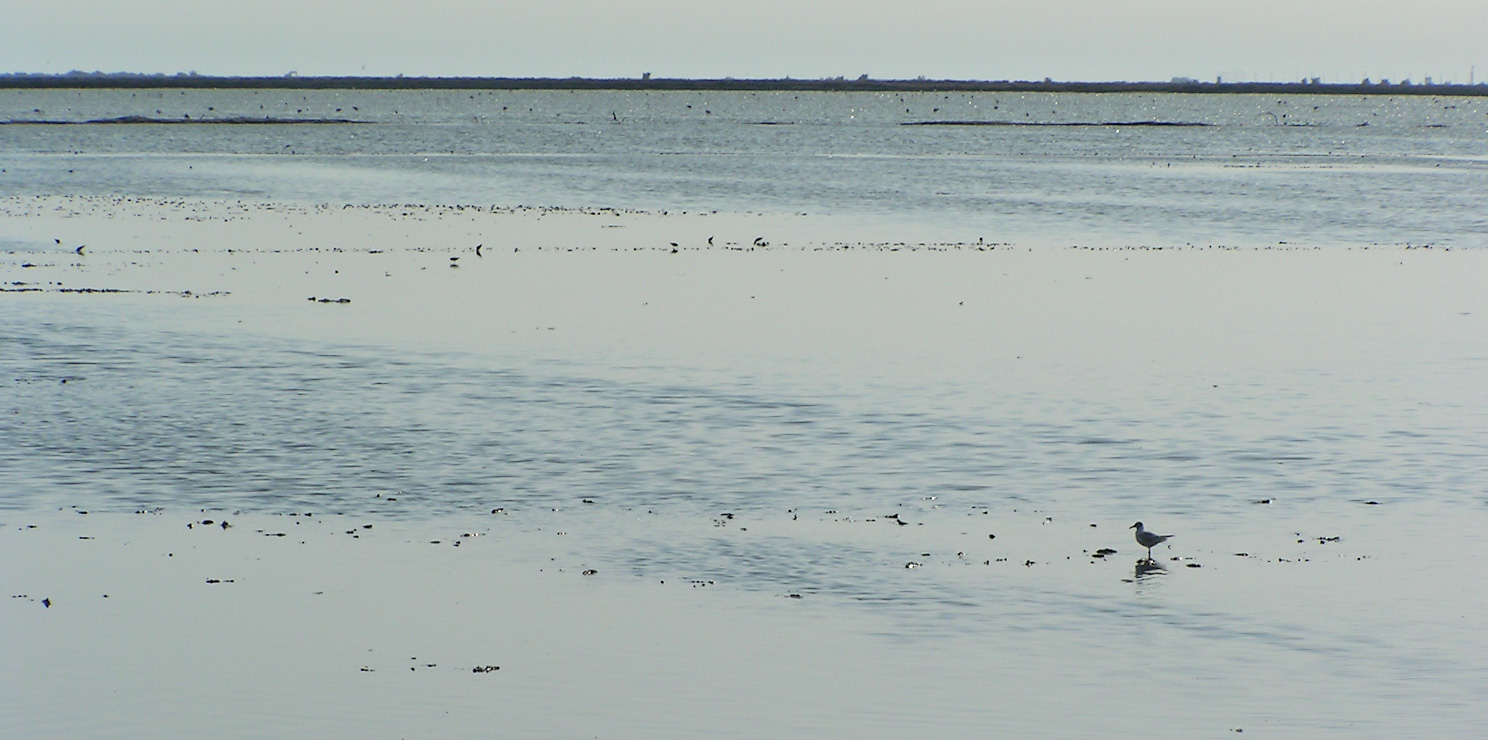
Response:
POLYGON ((0 201, 0 734, 1476 731, 1488 253, 900 237, 0 201))

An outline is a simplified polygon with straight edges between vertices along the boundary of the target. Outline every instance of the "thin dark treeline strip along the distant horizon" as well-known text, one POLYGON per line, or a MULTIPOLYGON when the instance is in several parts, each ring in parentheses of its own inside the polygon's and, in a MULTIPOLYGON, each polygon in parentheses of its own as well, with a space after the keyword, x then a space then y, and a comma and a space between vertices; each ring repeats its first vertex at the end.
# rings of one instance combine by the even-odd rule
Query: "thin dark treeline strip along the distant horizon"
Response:
POLYGON ((821 92, 1207 92, 1311 95, 1484 95, 1488 83, 1402 82, 1055 82, 1055 80, 887 80, 887 79, 674 79, 674 77, 214 77, 205 74, 0 74, 0 88, 195 88, 195 89, 670 89, 821 92))

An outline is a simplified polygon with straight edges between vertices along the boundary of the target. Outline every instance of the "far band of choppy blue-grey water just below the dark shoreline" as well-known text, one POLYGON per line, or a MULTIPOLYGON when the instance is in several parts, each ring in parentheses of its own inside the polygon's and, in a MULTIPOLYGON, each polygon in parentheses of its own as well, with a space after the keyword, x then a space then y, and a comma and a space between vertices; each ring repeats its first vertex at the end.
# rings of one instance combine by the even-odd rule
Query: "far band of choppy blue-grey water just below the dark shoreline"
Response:
POLYGON ((4 91, 0 195, 839 216, 841 238, 1488 246, 1484 98, 4 91), (210 119, 357 124, 201 125, 210 119), (997 127, 908 125, 998 122, 997 127), (1184 127, 1094 124, 1199 124, 1184 127), (1077 125, 1070 124, 1092 124, 1077 125))

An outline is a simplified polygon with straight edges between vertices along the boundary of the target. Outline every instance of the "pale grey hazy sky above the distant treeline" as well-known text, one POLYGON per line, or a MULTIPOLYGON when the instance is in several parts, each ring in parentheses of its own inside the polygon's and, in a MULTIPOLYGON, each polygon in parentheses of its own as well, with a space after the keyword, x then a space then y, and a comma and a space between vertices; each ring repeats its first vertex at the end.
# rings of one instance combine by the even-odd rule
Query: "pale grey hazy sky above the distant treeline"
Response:
POLYGON ((0 73, 1488 79, 1485 0, 3 0, 0 73))

